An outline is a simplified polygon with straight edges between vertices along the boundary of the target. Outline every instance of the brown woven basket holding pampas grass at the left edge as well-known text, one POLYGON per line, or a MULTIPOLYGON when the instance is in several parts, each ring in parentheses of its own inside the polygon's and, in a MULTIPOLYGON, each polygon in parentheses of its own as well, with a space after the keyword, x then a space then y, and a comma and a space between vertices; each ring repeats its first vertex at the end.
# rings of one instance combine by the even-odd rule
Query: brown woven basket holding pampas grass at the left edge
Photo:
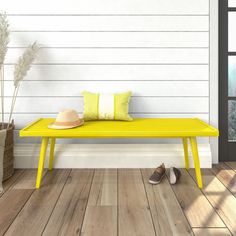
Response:
MULTIPOLYGON (((4 128, 7 128, 4 123, 4 128)), ((12 123, 6 135, 5 150, 3 157, 3 181, 9 179, 14 173, 14 124, 12 123)))

